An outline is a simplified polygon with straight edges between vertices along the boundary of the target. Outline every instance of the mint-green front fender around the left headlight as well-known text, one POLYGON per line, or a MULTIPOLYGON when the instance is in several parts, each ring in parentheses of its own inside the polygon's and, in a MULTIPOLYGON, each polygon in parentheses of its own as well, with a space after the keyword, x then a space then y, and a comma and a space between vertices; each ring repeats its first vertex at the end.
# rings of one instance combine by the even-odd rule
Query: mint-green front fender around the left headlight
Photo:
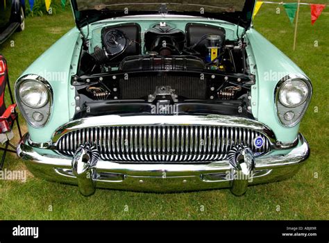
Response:
POLYGON ((53 107, 49 122, 43 128, 33 128, 28 125, 31 140, 49 142, 53 131, 73 117, 75 101, 74 89, 71 89, 70 81, 71 76, 76 74, 76 60, 78 60, 80 52, 80 33, 77 28, 72 28, 22 74, 22 76, 26 74, 42 76, 53 89, 53 107))

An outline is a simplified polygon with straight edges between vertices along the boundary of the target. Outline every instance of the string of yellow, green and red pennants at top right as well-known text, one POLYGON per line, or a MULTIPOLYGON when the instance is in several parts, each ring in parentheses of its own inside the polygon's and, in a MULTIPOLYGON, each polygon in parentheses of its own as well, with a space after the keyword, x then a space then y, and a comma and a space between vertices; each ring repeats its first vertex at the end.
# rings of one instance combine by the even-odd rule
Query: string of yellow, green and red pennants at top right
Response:
POLYGON ((326 6, 329 6, 328 4, 326 5, 326 4, 315 4, 315 3, 283 3, 283 2, 273 2, 273 1, 257 1, 255 10, 253 12, 253 18, 255 18, 255 16, 258 14, 258 11, 260 10, 260 7, 262 6, 263 3, 282 5, 283 8, 285 8, 285 12, 287 13, 287 16, 289 17, 289 20, 292 24, 294 23, 298 6, 308 5, 310 6, 310 10, 311 10, 312 25, 314 25, 314 23, 317 21, 323 9, 326 8, 326 6))

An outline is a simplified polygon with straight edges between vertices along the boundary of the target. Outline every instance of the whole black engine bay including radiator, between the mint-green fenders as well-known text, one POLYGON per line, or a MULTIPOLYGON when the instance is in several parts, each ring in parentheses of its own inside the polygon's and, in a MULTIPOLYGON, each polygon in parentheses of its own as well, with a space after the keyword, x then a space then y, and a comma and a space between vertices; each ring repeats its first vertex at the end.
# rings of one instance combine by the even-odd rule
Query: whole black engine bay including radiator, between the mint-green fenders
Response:
POLYGON ((179 105, 181 112, 223 114, 231 107, 237 115, 250 113, 254 77, 246 43, 228 39, 225 28, 187 23, 182 30, 160 22, 142 33, 139 24, 128 23, 101 28, 100 39, 85 45, 72 81, 80 106, 106 101, 102 106, 117 112, 148 112, 160 103, 179 105))

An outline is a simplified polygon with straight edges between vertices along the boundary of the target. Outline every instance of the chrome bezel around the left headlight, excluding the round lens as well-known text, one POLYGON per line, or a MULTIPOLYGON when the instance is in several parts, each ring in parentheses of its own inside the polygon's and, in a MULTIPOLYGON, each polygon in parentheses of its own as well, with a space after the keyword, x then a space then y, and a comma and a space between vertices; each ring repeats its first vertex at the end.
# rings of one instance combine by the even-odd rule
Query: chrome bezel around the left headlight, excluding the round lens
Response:
POLYGON ((42 128, 48 124, 53 106, 53 90, 49 82, 42 78, 42 76, 39 76, 37 74, 27 74, 19 78, 19 80, 15 83, 15 99, 17 101, 19 110, 21 110, 22 115, 30 126, 34 128, 42 128), (22 101, 19 95, 19 88, 22 84, 28 81, 33 81, 35 83, 42 84, 46 88, 48 99, 44 106, 32 107, 28 106, 28 104, 22 101), (35 115, 33 114, 35 114, 36 112, 42 115, 42 119, 39 121, 33 119, 33 117, 35 117, 35 115))

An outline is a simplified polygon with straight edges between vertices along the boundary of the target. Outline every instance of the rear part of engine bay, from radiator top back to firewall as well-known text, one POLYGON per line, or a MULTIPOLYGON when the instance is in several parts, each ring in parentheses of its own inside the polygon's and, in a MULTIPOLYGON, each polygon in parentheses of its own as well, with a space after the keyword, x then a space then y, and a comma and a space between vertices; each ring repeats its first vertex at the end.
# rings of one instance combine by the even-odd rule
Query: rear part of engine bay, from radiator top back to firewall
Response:
POLYGON ((94 74, 119 68, 245 73, 244 55, 244 45, 226 40, 225 29, 219 26, 188 23, 182 31, 160 22, 145 31, 142 40, 138 24, 120 24, 102 28, 101 46, 83 53, 81 62, 88 59, 90 63, 88 67, 82 64, 80 72, 94 74))

